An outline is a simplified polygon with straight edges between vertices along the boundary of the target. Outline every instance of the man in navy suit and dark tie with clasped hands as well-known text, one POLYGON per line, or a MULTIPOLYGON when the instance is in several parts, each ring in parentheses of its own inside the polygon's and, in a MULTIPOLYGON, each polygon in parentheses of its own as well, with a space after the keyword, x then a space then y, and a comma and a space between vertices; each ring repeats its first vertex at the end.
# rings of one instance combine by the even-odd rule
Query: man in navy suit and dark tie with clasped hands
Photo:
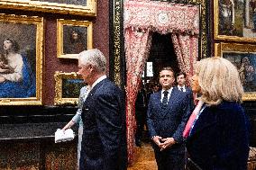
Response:
POLYGON ((182 132, 190 115, 187 94, 172 87, 175 82, 171 67, 160 71, 162 90, 151 94, 147 123, 159 170, 182 170, 185 147, 182 132))

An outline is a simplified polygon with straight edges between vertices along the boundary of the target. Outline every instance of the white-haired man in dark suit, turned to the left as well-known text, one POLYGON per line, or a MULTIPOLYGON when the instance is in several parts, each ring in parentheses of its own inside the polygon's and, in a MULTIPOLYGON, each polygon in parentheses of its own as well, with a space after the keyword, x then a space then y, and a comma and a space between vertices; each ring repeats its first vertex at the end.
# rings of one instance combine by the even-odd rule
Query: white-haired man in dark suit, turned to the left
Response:
POLYGON ((83 104, 80 170, 127 169, 123 92, 105 76, 106 60, 98 49, 78 55, 78 73, 91 86, 83 104))

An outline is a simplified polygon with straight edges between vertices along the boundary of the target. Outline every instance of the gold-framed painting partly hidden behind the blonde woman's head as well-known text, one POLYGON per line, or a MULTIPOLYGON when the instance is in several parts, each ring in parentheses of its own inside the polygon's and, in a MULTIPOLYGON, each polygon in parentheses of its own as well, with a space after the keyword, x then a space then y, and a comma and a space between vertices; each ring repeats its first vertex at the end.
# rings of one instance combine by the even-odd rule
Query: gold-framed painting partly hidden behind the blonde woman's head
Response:
POLYGON ((230 60, 237 67, 244 87, 243 101, 256 101, 256 45, 215 43, 215 56, 230 60))

